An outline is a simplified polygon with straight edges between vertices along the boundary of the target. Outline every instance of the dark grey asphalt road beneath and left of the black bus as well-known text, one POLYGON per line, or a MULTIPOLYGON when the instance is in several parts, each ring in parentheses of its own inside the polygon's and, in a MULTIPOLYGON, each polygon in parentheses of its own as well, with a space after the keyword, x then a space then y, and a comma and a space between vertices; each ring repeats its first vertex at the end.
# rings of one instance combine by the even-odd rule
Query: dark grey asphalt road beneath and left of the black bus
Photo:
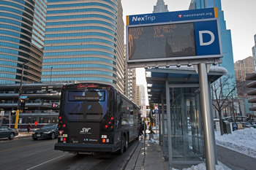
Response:
POLYGON ((0 141, 0 169, 45 170, 45 169, 84 169, 110 170, 124 169, 138 141, 129 144, 123 155, 118 153, 105 155, 75 155, 53 150, 57 139, 31 138, 0 141))

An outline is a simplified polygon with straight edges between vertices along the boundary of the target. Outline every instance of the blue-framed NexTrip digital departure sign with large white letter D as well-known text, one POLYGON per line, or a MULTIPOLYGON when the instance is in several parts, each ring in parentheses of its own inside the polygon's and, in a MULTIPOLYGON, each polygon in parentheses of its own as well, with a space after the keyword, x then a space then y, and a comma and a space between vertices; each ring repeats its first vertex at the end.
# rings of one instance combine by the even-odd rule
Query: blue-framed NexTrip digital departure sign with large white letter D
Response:
POLYGON ((127 63, 221 58, 217 8, 127 16, 127 63))

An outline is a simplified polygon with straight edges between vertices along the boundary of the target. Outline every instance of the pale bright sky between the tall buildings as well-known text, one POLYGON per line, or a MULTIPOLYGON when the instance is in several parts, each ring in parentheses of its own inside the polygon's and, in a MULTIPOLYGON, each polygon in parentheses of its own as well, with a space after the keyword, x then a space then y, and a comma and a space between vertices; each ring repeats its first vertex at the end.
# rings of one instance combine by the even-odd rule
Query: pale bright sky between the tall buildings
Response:
MULTIPOLYGON (((187 10, 191 0, 164 0, 170 12, 187 10)), ((157 0, 121 0, 126 15, 146 14, 153 12, 157 0)), ((234 62, 252 56, 256 34, 255 12, 256 0, 222 0, 222 10, 231 30, 234 62)))

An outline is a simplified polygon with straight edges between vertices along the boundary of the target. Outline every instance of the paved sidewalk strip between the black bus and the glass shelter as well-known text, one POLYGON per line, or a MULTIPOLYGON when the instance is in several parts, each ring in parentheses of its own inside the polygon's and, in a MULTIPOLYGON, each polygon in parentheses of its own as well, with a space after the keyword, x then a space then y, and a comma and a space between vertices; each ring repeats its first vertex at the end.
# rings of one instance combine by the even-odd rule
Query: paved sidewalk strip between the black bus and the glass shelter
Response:
POLYGON ((148 137, 147 134, 145 146, 142 137, 125 170, 167 170, 157 135, 153 140, 148 140, 148 137))

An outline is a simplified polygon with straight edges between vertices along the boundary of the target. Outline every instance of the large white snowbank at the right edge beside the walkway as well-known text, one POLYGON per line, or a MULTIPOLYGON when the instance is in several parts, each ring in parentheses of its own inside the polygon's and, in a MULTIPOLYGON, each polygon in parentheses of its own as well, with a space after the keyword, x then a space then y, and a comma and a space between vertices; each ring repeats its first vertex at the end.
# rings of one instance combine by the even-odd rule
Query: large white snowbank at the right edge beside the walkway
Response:
POLYGON ((216 132, 215 137, 220 146, 256 158, 256 128, 244 128, 222 136, 216 132))

